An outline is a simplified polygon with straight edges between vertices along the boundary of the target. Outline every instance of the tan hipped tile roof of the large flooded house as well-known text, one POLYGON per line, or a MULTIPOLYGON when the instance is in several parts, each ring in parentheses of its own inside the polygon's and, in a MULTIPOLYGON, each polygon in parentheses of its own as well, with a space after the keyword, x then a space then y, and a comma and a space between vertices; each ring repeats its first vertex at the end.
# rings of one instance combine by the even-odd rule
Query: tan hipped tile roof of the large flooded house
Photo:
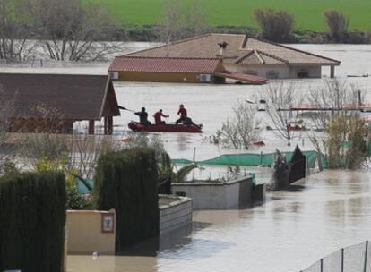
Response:
POLYGON ((126 56, 212 58, 219 54, 219 43, 226 42, 225 63, 235 64, 320 64, 339 65, 340 61, 315 55, 243 34, 206 34, 172 44, 145 49, 126 56))

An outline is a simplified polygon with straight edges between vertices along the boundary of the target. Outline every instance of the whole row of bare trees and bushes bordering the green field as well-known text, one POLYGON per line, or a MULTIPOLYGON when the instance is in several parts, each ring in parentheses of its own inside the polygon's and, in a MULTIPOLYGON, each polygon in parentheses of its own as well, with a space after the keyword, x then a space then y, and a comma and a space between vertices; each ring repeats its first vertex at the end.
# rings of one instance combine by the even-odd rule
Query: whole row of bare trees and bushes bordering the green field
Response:
POLYGON ((208 32, 240 33, 274 42, 367 43, 370 35, 349 32, 349 18, 326 10, 327 33, 295 30, 295 16, 285 10, 255 9, 255 26, 208 24, 209 14, 196 0, 166 0, 159 25, 127 25, 102 3, 82 0, 0 0, 0 60, 22 61, 43 53, 56 61, 98 60, 119 51, 107 41, 171 43, 208 32), (106 41, 106 42, 102 42, 106 41))

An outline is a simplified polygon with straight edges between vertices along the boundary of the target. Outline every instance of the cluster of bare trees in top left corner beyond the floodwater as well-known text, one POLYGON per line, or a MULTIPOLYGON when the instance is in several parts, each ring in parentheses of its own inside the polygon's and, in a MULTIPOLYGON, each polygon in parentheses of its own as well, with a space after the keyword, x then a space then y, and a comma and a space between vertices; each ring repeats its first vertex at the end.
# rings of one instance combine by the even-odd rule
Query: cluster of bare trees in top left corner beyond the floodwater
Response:
POLYGON ((101 4, 81 0, 0 0, 0 60, 42 50, 56 61, 95 60, 114 47, 116 21, 101 4), (41 49, 40 49, 41 48, 41 49))

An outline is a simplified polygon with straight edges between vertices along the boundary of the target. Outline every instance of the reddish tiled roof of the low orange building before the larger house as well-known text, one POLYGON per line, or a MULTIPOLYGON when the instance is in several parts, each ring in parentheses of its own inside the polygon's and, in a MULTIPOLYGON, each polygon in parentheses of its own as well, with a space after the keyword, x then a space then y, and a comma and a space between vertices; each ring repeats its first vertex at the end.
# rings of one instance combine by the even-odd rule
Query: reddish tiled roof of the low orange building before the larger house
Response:
POLYGON ((184 58, 184 57, 116 57, 109 67, 109 72, 214 72, 218 58, 184 58))

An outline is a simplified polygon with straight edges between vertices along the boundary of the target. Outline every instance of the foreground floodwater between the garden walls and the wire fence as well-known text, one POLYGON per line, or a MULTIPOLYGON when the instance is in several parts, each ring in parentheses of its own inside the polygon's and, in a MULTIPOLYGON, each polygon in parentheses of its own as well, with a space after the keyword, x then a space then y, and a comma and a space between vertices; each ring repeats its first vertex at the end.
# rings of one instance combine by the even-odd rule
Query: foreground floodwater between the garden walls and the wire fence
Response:
POLYGON ((298 272, 332 251, 371 238, 369 177, 367 172, 314 174, 299 182, 303 191, 274 192, 260 207, 196 211, 192 232, 182 229, 162 237, 156 252, 138 248, 135 256, 97 260, 70 256, 68 268, 298 272))

